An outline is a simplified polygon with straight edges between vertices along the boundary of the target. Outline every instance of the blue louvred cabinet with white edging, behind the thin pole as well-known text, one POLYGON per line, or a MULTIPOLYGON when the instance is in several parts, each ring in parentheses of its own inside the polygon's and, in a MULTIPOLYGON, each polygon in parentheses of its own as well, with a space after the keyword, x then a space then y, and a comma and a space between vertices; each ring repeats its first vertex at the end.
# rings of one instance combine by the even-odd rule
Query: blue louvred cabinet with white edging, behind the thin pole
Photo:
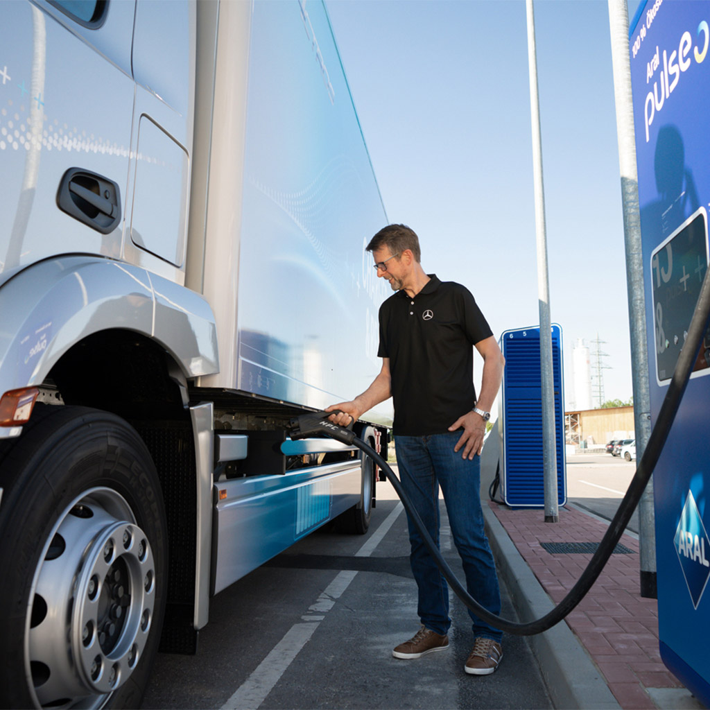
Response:
MULTIPOLYGON (((542 376, 540 328, 506 330, 501 335, 506 358, 498 398, 501 433, 501 493, 511 507, 545 506, 542 451, 542 376)), ((555 388, 557 439, 557 502, 567 502, 564 457, 564 392, 562 390, 562 329, 552 326, 552 380, 555 388)), ((710 552, 710 548, 709 548, 710 552)))

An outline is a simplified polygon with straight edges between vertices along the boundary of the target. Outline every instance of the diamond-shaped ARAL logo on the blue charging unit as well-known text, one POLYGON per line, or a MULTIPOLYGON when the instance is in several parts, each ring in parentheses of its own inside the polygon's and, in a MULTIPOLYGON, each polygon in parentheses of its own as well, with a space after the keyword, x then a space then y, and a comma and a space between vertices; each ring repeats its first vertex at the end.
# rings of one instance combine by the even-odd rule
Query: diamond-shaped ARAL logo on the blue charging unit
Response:
POLYGON ((694 608, 698 608, 710 577, 710 539, 698 512, 693 494, 688 491, 683 513, 673 538, 685 583, 694 608))

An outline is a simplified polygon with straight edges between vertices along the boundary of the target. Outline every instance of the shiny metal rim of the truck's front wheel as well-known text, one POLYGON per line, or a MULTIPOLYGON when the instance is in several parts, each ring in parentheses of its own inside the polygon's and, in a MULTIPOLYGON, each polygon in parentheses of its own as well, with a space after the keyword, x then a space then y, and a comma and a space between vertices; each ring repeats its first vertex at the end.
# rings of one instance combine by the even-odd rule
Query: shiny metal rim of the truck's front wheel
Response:
POLYGON ((62 511, 35 570, 25 667, 38 707, 100 707, 138 665, 155 606, 148 537, 125 498, 92 488, 62 511))

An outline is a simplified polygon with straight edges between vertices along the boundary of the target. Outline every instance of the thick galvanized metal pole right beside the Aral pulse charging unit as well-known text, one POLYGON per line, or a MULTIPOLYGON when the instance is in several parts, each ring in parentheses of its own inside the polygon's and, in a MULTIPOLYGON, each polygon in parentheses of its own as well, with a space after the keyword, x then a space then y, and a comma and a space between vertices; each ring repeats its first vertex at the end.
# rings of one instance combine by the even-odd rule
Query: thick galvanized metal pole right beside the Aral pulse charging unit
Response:
MULTIPOLYGON (((636 460, 641 458, 651 435, 651 405, 648 390, 646 307, 643 290, 643 252, 638 209, 638 176, 631 98, 631 63, 628 55, 628 7, 626 0, 608 0, 611 32, 611 63, 616 102, 616 134, 621 170, 623 233, 626 245, 626 290, 631 341, 633 418, 636 430, 636 460)), ((653 478, 638 504, 641 596, 656 599, 656 542, 653 509, 653 478)))

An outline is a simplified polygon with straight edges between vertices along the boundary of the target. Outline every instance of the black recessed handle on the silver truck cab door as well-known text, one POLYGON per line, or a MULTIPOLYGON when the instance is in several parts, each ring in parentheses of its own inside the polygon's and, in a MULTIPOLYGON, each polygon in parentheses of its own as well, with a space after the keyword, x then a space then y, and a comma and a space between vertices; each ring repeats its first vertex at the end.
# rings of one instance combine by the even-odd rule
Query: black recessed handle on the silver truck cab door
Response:
POLYGON ((62 212, 109 234, 121 221, 121 192, 116 182, 82 168, 70 168, 59 184, 57 204, 62 212))

